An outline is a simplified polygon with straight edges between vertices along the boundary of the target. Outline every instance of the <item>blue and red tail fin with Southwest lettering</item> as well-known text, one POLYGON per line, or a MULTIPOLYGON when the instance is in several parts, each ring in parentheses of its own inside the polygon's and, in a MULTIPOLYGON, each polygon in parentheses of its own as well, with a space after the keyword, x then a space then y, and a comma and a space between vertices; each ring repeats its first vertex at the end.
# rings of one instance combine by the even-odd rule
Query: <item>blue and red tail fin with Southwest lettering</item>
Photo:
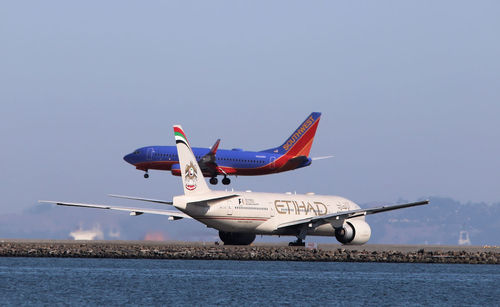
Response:
POLYGON ((277 154, 288 154, 291 156, 309 156, 311 146, 318 128, 320 112, 313 112, 295 130, 292 135, 279 147, 263 150, 277 154))

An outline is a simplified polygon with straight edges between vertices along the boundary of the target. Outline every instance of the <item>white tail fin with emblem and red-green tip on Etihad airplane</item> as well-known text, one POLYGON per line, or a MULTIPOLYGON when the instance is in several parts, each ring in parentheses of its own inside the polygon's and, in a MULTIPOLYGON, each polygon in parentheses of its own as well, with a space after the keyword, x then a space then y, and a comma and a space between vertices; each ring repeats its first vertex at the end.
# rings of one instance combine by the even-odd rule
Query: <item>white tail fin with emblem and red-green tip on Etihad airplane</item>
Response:
POLYGON ((180 125, 174 126, 175 144, 179 155, 182 185, 185 195, 198 195, 210 192, 200 166, 191 150, 186 134, 180 125))

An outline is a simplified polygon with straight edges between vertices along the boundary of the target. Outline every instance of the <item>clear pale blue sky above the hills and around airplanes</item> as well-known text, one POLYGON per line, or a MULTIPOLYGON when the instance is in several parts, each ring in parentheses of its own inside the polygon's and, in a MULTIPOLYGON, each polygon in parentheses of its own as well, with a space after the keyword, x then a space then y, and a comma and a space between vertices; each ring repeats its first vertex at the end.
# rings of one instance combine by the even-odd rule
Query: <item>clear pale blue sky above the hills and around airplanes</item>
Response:
MULTIPOLYGON (((500 202, 497 1, 4 1, 0 208, 170 200, 122 158, 264 150, 322 112, 310 167, 230 188, 500 202)), ((221 185, 217 189, 223 189, 221 185)), ((130 204, 127 204, 130 205, 130 204)))

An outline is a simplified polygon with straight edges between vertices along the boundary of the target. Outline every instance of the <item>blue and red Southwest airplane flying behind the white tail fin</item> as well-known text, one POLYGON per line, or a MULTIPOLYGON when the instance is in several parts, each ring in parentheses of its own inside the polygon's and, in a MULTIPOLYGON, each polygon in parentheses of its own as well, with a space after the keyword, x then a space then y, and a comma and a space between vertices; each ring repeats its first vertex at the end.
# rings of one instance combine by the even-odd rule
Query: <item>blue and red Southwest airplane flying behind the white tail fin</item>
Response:
MULTIPOLYGON (((217 151, 220 143, 218 139, 210 149, 193 147, 193 153, 201 173, 205 177, 210 177, 211 184, 217 184, 217 175, 223 175, 222 184, 228 185, 231 183, 228 175, 265 175, 305 167, 310 165, 312 160, 330 157, 309 158, 320 116, 319 112, 311 113, 279 147, 257 152, 242 149, 217 151)), ((150 169, 166 170, 171 171, 173 175, 181 175, 175 146, 142 147, 123 159, 137 169, 145 171, 144 178, 149 177, 150 169)))

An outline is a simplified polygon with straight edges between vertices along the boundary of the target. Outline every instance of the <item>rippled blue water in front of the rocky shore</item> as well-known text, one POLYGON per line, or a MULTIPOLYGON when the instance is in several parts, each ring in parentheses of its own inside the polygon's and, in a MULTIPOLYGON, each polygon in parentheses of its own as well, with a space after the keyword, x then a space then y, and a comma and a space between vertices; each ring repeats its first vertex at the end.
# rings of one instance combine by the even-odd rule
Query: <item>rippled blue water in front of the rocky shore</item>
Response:
POLYGON ((500 266, 0 258, 0 303, 499 306, 500 266))

